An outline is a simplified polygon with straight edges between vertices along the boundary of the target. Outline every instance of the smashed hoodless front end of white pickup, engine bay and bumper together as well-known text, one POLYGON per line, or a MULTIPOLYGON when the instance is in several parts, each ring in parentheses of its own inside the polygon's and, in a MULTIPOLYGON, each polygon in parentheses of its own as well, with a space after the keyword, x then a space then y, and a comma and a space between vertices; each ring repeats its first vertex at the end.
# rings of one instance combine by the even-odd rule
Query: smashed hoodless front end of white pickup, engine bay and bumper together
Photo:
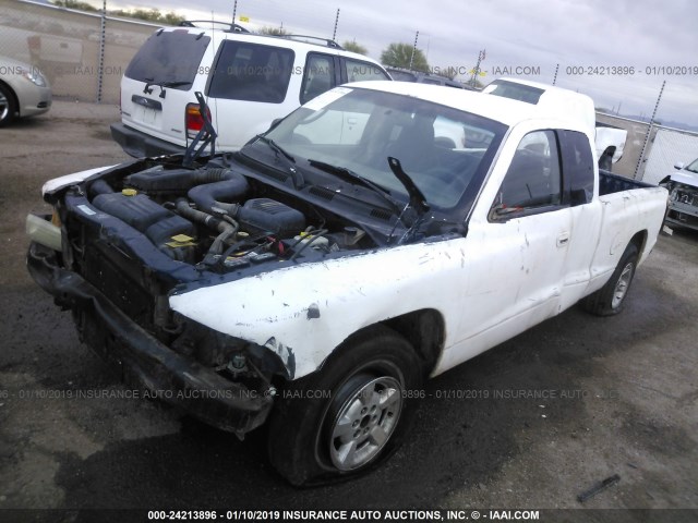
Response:
MULTIPOLYGON (((136 160, 51 187, 53 216, 27 219, 27 266, 124 380, 242 436, 266 419, 275 382, 293 379, 293 354, 206 327, 174 312, 171 296, 377 244, 225 159, 180 160, 136 160)), ((210 314, 225 306, 210 303, 210 314)))

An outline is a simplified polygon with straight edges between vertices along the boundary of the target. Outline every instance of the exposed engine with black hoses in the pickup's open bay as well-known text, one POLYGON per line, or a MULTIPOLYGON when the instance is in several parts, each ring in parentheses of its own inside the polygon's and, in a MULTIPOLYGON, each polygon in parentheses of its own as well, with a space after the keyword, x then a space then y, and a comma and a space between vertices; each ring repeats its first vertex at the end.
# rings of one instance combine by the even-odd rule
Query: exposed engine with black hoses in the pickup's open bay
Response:
POLYGON ((124 178, 94 181, 88 185, 92 204, 143 233, 170 258, 201 269, 228 271, 373 245, 360 228, 222 163, 142 167, 124 178))

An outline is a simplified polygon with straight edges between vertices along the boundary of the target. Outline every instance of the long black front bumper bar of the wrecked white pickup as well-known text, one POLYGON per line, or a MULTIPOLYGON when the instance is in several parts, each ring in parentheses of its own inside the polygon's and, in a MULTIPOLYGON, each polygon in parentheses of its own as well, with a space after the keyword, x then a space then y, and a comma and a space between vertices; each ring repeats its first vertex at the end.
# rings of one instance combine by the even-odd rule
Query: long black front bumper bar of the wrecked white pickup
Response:
POLYGON ((77 312, 84 341, 154 396, 238 436, 262 425, 270 394, 230 381, 172 351, 117 308, 80 275, 63 269, 55 251, 33 242, 27 267, 57 303, 77 312))

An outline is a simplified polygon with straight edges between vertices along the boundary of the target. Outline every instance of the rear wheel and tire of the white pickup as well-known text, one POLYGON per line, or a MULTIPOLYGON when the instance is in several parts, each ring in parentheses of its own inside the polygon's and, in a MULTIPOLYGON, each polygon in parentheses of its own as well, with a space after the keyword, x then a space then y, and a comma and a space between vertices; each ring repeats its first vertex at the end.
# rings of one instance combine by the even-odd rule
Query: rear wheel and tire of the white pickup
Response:
POLYGON ((621 313, 635 277, 637 262, 637 245, 630 243, 621 256, 621 262, 618 262, 611 279, 597 292, 583 299, 583 307, 597 316, 613 316, 621 313))

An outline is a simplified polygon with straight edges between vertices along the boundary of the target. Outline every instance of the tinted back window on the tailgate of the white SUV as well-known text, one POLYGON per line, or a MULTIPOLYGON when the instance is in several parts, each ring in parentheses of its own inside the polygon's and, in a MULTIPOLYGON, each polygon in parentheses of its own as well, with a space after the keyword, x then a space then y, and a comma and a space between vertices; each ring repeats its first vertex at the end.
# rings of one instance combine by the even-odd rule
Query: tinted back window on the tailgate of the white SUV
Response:
POLYGON ((186 31, 158 31, 135 53, 125 76, 139 82, 161 84, 188 90, 196 77, 210 37, 186 31))

